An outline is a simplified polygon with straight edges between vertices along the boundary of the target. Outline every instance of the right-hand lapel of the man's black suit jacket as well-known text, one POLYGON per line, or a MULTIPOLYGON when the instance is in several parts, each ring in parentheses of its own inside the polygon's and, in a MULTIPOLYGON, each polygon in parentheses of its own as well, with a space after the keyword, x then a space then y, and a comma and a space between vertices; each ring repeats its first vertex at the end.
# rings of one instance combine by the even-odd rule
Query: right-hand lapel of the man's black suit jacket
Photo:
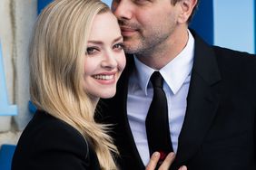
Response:
POLYGON ((196 34, 193 33, 193 36, 195 37, 195 55, 192 78, 173 166, 182 165, 200 148, 219 104, 218 82, 221 80, 221 75, 214 52, 196 34))

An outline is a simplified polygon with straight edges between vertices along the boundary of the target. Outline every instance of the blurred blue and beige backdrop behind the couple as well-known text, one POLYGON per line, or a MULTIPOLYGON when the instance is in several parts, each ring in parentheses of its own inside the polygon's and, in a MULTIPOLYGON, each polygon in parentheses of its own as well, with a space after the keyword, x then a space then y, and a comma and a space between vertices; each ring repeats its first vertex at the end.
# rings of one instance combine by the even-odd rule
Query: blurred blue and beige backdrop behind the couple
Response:
MULTIPOLYGON (((4 169, 1 165, 8 156, 8 149, 2 145, 15 146, 33 116, 28 90, 28 44, 37 14, 51 1, 0 1, 0 169, 4 169)), ((111 5, 112 1, 103 2, 111 5)), ((208 43, 255 53, 255 17, 255 0, 201 0, 190 26, 208 43)))

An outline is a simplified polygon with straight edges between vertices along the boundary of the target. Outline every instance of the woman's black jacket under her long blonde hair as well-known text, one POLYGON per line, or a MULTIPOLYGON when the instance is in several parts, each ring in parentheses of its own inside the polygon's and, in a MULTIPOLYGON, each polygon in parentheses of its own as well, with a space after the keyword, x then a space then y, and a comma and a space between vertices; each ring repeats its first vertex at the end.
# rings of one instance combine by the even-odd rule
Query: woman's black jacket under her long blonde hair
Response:
POLYGON ((64 121, 37 111, 15 148, 12 170, 100 169, 88 141, 64 121))

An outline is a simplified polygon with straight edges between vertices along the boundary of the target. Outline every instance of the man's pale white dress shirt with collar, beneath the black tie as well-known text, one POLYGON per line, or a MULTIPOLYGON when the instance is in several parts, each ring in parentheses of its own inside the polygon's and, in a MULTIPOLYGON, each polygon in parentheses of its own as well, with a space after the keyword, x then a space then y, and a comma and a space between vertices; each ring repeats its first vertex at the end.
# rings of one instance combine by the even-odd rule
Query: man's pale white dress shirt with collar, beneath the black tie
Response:
MULTIPOLYGON (((178 137, 185 117, 186 98, 193 63, 194 39, 189 30, 188 33, 189 40, 182 52, 160 70, 164 80, 163 90, 168 103, 169 127, 174 152, 177 152, 178 149, 178 137)), ((150 155, 145 119, 153 99, 153 86, 150 77, 155 70, 143 64, 136 57, 134 57, 134 61, 136 71, 133 72, 129 80, 127 113, 137 149, 143 164, 147 165, 150 155)))

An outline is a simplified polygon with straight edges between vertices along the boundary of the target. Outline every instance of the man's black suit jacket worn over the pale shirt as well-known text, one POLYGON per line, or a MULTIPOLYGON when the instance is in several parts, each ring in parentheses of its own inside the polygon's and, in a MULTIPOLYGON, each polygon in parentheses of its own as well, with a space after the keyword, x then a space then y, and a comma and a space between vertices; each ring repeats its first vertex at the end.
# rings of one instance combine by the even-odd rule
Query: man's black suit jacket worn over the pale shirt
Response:
MULTIPOLYGON (((256 58, 209 46, 195 38, 187 109, 171 169, 256 169, 256 58)), ((118 82, 113 99, 102 99, 99 121, 113 124, 112 136, 120 150, 123 169, 144 169, 129 127, 126 101, 133 57, 118 82)), ((140 108, 138 108, 140 109, 140 108)))

